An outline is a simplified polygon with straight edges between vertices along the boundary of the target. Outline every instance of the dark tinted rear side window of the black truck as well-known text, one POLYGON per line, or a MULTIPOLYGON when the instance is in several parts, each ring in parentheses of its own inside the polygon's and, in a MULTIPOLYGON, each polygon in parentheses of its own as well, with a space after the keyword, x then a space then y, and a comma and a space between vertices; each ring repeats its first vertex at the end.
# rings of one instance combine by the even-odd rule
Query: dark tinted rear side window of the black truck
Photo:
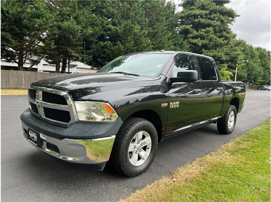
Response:
POLYGON ((217 80, 215 68, 211 60, 208 60, 203 57, 197 57, 199 68, 201 70, 201 78, 203 81, 208 80, 217 80))

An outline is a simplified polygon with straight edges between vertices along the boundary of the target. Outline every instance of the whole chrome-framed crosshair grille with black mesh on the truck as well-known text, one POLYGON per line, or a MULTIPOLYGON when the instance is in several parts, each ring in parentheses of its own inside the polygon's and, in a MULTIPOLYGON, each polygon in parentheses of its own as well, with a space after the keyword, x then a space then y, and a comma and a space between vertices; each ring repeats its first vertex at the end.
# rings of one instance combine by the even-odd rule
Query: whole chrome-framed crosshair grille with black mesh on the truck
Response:
POLYGON ((72 124, 76 121, 73 102, 64 91, 29 86, 28 99, 31 113, 46 122, 72 124))

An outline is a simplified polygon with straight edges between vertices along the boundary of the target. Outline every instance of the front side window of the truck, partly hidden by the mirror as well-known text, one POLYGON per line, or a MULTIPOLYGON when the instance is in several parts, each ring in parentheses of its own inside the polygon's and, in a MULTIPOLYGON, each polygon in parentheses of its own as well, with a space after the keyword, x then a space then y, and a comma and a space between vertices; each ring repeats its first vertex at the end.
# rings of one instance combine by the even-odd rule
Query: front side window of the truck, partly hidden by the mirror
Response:
POLYGON ((172 68, 173 76, 177 77, 177 73, 183 70, 196 70, 192 56, 183 55, 177 59, 172 68))

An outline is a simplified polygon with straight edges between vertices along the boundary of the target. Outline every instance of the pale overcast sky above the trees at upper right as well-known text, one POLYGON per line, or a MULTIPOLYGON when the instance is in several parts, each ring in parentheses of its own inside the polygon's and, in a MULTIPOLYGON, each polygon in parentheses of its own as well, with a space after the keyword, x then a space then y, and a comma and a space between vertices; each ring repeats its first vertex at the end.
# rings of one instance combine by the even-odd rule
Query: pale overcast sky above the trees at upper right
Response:
MULTIPOLYGON (((176 4, 182 2, 181 0, 174 1, 176 4)), ((232 30, 237 33, 237 38, 245 39, 253 46, 271 50, 270 3, 270 0, 240 0, 226 4, 240 15, 232 25, 232 30)), ((179 8, 179 10, 182 9, 179 8)))

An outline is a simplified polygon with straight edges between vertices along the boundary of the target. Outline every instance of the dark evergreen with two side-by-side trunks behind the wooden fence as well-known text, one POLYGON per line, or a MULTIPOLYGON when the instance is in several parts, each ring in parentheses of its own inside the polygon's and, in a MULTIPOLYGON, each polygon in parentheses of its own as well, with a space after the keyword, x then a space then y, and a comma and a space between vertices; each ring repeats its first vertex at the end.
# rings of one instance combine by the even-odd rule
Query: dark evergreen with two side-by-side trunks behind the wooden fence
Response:
POLYGON ((47 52, 46 60, 56 64, 57 73, 62 62, 61 73, 65 73, 68 60, 80 60, 82 27, 75 20, 78 12, 77 1, 46 1, 46 7, 55 14, 56 19, 51 37, 55 48, 47 52))

